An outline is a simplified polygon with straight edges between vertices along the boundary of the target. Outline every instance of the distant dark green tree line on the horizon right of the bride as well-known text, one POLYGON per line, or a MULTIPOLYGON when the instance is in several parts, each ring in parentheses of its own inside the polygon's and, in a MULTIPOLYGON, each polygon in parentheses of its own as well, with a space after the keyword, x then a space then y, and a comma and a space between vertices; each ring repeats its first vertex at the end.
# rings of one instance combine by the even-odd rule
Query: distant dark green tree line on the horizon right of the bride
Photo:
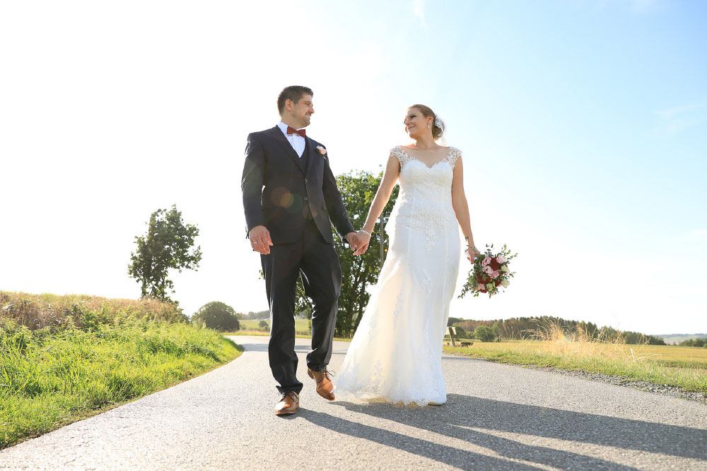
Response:
MULTIPOLYGON (((474 321, 450 317, 448 319, 448 326, 455 326, 457 333, 461 333, 460 328, 464 333, 475 333, 477 328, 485 326, 490 328, 495 338, 512 340, 547 338, 547 333, 550 328, 559 327, 568 335, 581 330, 588 338, 592 339, 615 339, 621 336, 627 344, 636 345, 648 343, 648 345, 666 345, 662 338, 657 338, 653 335, 631 332, 630 330, 617 330, 609 326, 600 328, 597 324, 592 322, 568 321, 561 317, 554 316, 512 317, 508 319, 494 319, 493 321, 474 321)), ((481 331, 484 332, 483 335, 485 337, 489 336, 487 330, 481 331)))

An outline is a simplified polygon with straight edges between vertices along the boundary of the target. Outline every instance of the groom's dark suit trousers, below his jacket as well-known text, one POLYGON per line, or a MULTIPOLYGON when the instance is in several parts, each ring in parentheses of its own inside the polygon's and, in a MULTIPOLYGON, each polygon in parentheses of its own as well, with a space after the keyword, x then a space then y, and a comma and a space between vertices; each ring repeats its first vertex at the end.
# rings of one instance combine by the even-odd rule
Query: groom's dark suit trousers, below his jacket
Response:
POLYGON ((277 389, 300 393, 295 353, 295 292, 302 276, 305 294, 312 299, 312 350, 307 366, 322 371, 332 357, 337 325, 341 267, 334 246, 325 241, 314 221, 307 219, 303 236, 293 244, 276 244, 270 254, 261 255, 265 290, 270 306, 268 357, 277 389))

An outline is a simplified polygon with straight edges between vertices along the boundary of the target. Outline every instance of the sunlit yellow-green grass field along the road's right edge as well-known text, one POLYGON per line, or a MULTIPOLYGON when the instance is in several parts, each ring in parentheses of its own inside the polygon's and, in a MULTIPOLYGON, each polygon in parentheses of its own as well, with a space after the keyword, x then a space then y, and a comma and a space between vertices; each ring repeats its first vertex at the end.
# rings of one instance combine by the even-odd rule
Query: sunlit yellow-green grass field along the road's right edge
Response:
POLYGON ((663 345, 555 340, 479 342, 471 347, 445 346, 450 354, 493 362, 551 366, 573 371, 624 376, 632 381, 678 386, 707 397, 707 349, 663 345))

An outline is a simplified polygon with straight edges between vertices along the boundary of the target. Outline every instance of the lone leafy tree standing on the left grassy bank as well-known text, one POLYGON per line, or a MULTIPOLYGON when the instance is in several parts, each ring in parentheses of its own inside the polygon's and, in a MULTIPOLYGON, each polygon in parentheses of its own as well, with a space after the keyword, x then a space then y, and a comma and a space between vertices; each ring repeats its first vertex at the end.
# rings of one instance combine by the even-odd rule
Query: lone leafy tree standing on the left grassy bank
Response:
POLYGON ((175 205, 169 211, 158 209, 152 213, 147 234, 135 237, 137 250, 130 254, 132 263, 128 266, 128 274, 142 283, 142 297, 178 304, 169 297, 174 293, 174 284, 167 278, 168 270, 197 270, 201 261, 201 247, 193 249, 197 235, 199 229, 185 225, 175 205))

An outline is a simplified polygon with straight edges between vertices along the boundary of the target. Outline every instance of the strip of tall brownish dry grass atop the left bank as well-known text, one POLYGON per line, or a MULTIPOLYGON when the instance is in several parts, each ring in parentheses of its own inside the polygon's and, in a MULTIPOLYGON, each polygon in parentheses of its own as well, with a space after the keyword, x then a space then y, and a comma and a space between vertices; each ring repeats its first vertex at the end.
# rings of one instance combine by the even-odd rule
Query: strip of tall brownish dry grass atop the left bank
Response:
POLYGON ((41 328, 86 328, 127 318, 187 321, 182 310, 156 299, 109 299, 86 294, 30 294, 0 291, 0 321, 41 328))

